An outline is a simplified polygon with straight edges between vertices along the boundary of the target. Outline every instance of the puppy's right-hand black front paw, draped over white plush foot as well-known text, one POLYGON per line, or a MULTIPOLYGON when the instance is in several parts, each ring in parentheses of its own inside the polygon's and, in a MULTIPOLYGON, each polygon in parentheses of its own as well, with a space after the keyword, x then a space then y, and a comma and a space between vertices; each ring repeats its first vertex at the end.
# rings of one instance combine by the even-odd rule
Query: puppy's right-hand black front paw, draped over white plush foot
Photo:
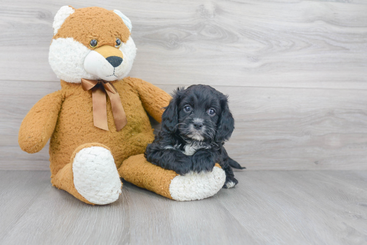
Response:
POLYGON ((210 172, 218 162, 219 154, 212 149, 199 149, 192 155, 194 172, 210 172))

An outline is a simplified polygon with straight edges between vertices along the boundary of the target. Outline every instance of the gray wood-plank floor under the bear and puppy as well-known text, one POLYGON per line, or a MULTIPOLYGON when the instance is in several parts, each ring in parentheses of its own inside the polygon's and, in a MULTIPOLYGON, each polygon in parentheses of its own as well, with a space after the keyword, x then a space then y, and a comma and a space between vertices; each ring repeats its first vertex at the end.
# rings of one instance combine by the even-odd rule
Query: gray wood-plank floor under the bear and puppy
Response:
POLYGON ((237 171, 239 184, 179 202, 130 183, 91 206, 48 171, 0 171, 0 244, 367 243, 367 171, 237 171))

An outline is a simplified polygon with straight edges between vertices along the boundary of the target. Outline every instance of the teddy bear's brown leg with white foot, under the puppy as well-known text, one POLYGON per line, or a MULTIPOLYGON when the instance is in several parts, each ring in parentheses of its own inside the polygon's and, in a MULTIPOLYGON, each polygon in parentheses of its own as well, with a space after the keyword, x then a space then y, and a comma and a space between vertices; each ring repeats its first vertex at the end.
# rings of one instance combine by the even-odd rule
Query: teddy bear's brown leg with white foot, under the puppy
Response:
POLYGON ((177 201, 213 196, 226 181, 226 173, 219 164, 211 172, 179 175, 151 164, 143 154, 126 159, 118 171, 126 181, 177 201))

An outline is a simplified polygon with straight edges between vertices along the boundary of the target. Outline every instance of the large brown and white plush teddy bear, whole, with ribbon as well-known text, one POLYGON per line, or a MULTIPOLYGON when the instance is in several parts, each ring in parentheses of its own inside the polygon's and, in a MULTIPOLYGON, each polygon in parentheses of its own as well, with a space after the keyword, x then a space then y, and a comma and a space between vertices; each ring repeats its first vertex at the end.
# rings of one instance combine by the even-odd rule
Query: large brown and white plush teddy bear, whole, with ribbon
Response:
POLYGON ((52 27, 49 63, 61 90, 41 98, 19 130, 28 153, 50 139, 52 186, 93 205, 116 201, 120 178, 175 200, 206 198, 222 188, 219 165, 181 176, 145 160, 154 140, 147 113, 160 122, 171 97, 127 76, 136 55, 129 18, 119 10, 63 6, 52 27))

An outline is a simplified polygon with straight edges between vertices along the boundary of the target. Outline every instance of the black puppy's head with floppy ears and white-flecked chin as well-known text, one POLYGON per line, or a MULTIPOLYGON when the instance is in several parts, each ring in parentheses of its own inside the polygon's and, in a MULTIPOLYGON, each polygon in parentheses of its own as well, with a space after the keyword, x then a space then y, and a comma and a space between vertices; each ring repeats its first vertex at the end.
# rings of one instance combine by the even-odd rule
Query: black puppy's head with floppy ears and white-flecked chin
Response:
POLYGON ((178 88, 162 115, 162 130, 197 141, 224 142, 234 128, 227 97, 208 85, 178 88))

